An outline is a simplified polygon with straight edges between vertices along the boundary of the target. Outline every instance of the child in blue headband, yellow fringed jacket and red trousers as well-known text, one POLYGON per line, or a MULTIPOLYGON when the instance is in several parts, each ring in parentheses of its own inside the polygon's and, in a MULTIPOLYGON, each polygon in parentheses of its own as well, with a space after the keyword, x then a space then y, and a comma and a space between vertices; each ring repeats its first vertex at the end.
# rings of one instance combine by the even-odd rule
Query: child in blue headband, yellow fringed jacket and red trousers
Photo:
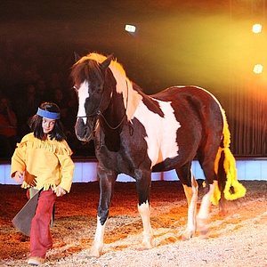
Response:
POLYGON ((53 247, 50 221, 56 197, 69 192, 74 173, 72 151, 65 141, 60 109, 44 102, 31 118, 33 133, 26 134, 12 156, 11 176, 23 182, 24 189, 39 190, 36 214, 30 230, 28 264, 44 263, 45 254, 53 247))

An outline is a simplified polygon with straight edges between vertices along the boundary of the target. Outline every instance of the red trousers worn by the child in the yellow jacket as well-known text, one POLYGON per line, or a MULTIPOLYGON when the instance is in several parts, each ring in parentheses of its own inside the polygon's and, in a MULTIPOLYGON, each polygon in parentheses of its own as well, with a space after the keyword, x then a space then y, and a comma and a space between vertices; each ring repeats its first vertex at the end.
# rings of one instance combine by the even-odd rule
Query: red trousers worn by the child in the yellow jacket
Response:
POLYGON ((46 251, 53 247, 50 220, 55 199, 56 194, 52 189, 40 192, 30 230, 30 256, 44 258, 46 251))

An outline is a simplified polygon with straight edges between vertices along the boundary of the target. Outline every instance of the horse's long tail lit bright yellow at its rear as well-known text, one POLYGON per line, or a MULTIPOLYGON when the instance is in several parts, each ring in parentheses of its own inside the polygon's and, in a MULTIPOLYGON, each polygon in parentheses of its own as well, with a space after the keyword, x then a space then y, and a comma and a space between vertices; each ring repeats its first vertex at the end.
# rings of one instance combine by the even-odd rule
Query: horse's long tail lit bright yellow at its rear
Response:
POLYGON ((242 198, 246 194, 245 187, 238 181, 236 160, 230 150, 231 134, 224 110, 223 121, 223 140, 214 161, 214 171, 218 176, 218 186, 214 190, 214 196, 211 198, 214 205, 218 204, 221 192, 223 192, 223 196, 227 200, 242 198))

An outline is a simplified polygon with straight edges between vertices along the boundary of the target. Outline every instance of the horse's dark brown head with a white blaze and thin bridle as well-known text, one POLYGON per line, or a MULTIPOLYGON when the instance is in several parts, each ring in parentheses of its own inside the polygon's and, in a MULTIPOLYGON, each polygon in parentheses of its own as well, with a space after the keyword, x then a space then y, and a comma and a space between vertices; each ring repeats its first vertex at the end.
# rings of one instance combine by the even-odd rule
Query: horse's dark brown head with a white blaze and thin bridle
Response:
POLYGON ((109 105, 111 89, 105 80, 112 58, 111 54, 100 63, 85 56, 72 67, 70 76, 79 101, 75 131, 80 141, 93 139, 97 118, 109 105))

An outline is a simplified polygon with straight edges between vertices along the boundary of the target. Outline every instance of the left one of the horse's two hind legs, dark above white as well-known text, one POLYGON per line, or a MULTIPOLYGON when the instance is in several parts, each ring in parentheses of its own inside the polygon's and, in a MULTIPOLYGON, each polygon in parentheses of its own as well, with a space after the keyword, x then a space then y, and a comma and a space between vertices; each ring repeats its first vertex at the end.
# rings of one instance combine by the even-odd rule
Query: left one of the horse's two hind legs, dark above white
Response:
POLYGON ((188 219, 187 228, 182 232, 182 240, 192 238, 197 230, 197 201, 198 201, 198 182, 191 172, 191 163, 188 163, 181 168, 176 169, 180 181, 182 182, 183 190, 188 202, 188 219))

